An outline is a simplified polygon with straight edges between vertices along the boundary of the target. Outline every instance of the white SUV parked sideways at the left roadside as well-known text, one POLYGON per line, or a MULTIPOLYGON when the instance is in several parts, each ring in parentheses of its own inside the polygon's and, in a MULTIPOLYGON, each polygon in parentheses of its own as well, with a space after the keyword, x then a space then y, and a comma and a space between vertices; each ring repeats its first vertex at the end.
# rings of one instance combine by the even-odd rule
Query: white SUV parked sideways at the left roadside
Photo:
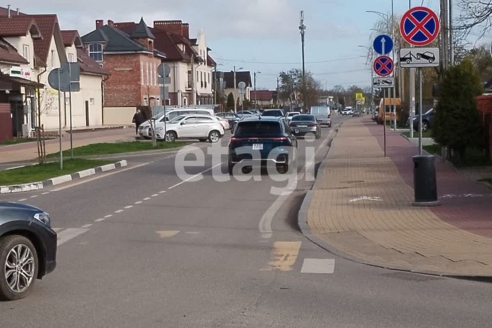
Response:
POLYGON ((198 139, 218 142, 223 135, 224 128, 219 120, 210 115, 180 115, 168 122, 158 122, 155 126, 155 137, 158 140, 198 139))

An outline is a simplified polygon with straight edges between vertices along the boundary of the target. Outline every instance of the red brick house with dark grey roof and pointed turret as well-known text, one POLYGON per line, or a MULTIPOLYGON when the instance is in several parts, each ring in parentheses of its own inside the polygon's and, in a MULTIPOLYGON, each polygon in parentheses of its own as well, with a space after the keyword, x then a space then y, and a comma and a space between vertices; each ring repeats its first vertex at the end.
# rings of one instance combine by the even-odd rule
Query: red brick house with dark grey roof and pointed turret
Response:
POLYGON ((130 34, 96 20, 81 37, 88 55, 109 71, 104 81, 105 124, 128 124, 137 106, 160 104, 157 67, 166 55, 154 48, 155 36, 144 19, 130 34))

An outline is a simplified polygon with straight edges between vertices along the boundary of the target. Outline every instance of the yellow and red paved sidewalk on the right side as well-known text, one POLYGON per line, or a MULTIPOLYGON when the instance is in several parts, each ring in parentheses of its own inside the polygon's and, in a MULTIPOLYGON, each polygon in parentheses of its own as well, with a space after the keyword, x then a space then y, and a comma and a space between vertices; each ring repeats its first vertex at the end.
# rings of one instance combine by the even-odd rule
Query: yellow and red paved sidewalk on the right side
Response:
POLYGON ((344 122, 311 194, 311 231, 303 232, 384 268, 492 276, 492 190, 437 159, 442 206, 411 206, 417 148, 387 130, 385 158, 382 129, 364 118, 344 122))

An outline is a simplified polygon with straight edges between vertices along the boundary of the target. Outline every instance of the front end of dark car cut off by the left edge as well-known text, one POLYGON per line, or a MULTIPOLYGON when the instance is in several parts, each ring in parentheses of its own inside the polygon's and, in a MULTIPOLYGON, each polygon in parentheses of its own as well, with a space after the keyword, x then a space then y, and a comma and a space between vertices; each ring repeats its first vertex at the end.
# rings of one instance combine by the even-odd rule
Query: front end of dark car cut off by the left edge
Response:
POLYGON ((56 267, 56 232, 42 210, 0 201, 0 298, 27 296, 56 267))

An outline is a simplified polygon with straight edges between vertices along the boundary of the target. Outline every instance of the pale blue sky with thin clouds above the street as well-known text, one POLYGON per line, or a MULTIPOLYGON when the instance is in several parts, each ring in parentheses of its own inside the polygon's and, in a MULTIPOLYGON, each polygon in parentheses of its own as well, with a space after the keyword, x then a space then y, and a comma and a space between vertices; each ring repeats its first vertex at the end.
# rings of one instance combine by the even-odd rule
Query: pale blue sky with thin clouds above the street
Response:
MULTIPOLYGON (((411 0, 439 11, 439 0, 411 0)), ((12 0, 12 8, 30 14, 58 15, 61 29, 76 29, 84 35, 95 28, 96 19, 138 22, 178 19, 190 24, 190 38, 200 28, 205 32, 211 55, 231 71, 234 66, 257 74, 258 89, 275 89, 280 71, 302 68, 299 13, 304 11, 305 66, 321 85, 330 89, 371 84, 367 50, 376 36, 371 31, 379 19, 367 10, 391 14, 391 0, 12 0), (122 5, 125 3, 125 5, 122 5)), ((6 5, 2 5, 6 7, 6 5)), ((401 16, 408 0, 394 0, 401 16)))

